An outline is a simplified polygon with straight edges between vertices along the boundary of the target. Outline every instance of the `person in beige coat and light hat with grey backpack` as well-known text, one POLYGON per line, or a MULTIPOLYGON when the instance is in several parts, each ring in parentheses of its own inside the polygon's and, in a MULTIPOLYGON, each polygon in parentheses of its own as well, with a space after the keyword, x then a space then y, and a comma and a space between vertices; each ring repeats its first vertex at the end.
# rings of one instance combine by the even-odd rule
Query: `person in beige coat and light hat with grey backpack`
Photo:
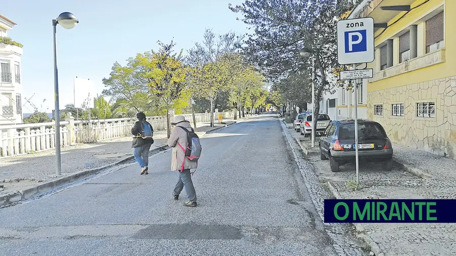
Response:
POLYGON ((197 206, 197 196, 192 181, 193 173, 190 172, 190 169, 198 167, 198 159, 201 154, 200 139, 183 115, 177 115, 171 124, 175 126, 168 139, 168 146, 173 148, 171 170, 179 172, 179 180, 172 195, 174 200, 178 200, 180 192, 185 187, 188 201, 183 204, 195 207, 197 206))

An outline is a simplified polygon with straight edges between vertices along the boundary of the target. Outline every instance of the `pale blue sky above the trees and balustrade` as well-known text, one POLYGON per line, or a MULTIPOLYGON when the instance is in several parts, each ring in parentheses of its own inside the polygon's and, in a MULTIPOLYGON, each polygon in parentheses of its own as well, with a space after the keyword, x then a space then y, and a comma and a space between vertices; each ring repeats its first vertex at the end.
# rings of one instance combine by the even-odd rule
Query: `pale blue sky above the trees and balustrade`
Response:
MULTIPOLYGON (((73 13, 79 24, 73 29, 57 26, 57 66, 60 109, 73 103, 73 78, 94 81, 94 93, 104 89, 112 64, 126 64, 137 53, 158 50, 157 41, 176 42, 176 51, 191 49, 203 40, 206 28, 216 33, 246 33, 247 26, 228 5, 242 0, 17 0, 2 1, 0 14, 17 25, 8 36, 24 45, 22 98, 30 98, 39 110, 54 109, 52 19, 73 13), (46 99, 43 104, 43 100, 46 99), (41 107, 43 105, 43 108, 41 107)), ((33 112, 30 105, 24 113, 33 112)))

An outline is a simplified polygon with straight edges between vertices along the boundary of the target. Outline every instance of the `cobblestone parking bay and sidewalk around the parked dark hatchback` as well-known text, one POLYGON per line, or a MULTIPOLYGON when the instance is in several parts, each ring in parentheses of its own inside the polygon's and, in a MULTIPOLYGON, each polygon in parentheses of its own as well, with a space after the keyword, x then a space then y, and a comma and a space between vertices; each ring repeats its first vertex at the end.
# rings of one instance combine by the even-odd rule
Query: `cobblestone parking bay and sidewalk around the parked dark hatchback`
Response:
MULTIPOLYGON (((305 147, 310 139, 289 129, 305 147)), ((318 137, 316 145, 318 145, 318 137)), ((347 164, 332 173, 329 161, 320 160, 318 146, 305 158, 312 163, 320 181, 331 181, 341 198, 456 199, 456 161, 402 145, 393 145, 394 157, 401 163, 432 174, 421 179, 395 165, 386 172, 377 163, 360 163, 360 184, 354 191, 348 181, 356 179, 356 167, 347 164)), ((455 224, 362 224, 364 231, 385 255, 456 255, 455 224)))

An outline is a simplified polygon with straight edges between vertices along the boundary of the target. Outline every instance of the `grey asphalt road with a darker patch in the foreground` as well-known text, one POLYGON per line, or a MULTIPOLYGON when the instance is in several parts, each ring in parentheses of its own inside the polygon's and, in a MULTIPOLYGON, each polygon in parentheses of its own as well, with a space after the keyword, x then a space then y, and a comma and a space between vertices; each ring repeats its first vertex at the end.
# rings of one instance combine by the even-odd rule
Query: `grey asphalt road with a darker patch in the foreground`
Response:
MULTIPOLYGON (((171 151, 0 209, 2 255, 335 255, 276 115, 202 139, 198 207, 174 201, 171 151)), ((52 165, 53 166, 53 165, 52 165)))

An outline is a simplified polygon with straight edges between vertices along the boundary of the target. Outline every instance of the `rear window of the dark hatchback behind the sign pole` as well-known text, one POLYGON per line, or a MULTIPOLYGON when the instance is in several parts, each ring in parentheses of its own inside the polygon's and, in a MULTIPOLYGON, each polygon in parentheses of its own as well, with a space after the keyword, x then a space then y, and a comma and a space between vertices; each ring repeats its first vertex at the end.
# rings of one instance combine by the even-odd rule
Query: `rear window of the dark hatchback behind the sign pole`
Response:
MULTIPOLYGON (((386 137, 383 127, 378 123, 358 123, 358 139, 383 139, 386 137)), ((339 127, 339 140, 354 140, 355 124, 348 123, 339 127)))

